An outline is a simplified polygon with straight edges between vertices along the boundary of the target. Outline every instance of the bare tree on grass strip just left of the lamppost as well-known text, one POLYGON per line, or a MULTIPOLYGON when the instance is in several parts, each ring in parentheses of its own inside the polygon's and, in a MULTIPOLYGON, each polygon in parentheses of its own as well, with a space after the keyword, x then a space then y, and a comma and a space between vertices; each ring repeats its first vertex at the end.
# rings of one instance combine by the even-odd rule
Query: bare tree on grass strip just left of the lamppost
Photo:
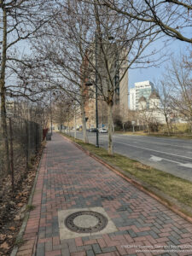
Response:
POLYGON ((86 20, 82 15, 86 10, 86 5, 76 1, 61 3, 60 13, 55 15, 55 22, 48 24, 47 34, 37 40, 33 47, 37 49, 42 63, 38 79, 43 79, 50 88, 65 92, 79 104, 84 142, 88 143, 84 111, 86 88, 83 67, 88 45, 84 42, 84 37, 87 37, 89 32, 89 23, 88 19, 86 20), (45 75, 42 77, 42 74, 45 75))

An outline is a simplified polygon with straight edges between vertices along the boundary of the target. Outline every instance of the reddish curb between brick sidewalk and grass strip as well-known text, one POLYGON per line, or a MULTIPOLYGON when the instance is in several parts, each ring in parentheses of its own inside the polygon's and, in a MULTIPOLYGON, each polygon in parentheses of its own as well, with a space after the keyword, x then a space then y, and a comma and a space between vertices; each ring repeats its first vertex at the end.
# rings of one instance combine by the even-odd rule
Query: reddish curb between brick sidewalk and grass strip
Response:
MULTIPOLYGON (((181 210, 180 210, 181 208, 177 207, 177 205, 173 204, 170 200, 166 199, 165 197, 167 197, 167 196, 165 196, 163 193, 161 193, 158 189, 155 189, 156 193, 155 193, 155 191, 153 191, 154 189, 151 189, 151 188, 147 189, 146 188, 147 185, 145 187, 144 183, 142 183, 141 181, 137 181, 135 178, 131 177, 131 175, 127 174, 123 170, 120 170, 116 166, 112 166, 111 164, 109 164, 106 161, 102 160, 96 154, 90 153, 90 151, 88 151, 87 149, 82 148, 78 143, 75 143, 72 140, 70 140, 69 138, 64 137, 64 136, 63 136, 63 139, 66 139, 68 142, 73 143, 77 148, 81 149, 85 154, 90 155, 90 157, 92 157, 93 159, 95 159, 98 162, 100 162, 103 166, 106 166, 108 169, 110 169, 111 171, 115 172, 120 177, 123 177, 126 181, 128 181, 129 183, 131 183, 135 187, 137 187, 137 189, 140 189, 145 194, 150 195, 156 201, 159 201, 162 205, 164 205, 165 207, 167 207, 170 210, 172 210, 172 212, 177 213, 177 215, 179 215, 180 217, 184 218, 185 220, 189 221, 192 224, 192 218, 189 217, 188 215, 186 215, 185 213, 181 212, 181 210), (157 195, 157 194, 161 194, 161 196, 157 195)), ((169 198, 172 199, 171 196, 169 196, 169 198)), ((176 201, 176 200, 172 199, 172 201, 176 201)))

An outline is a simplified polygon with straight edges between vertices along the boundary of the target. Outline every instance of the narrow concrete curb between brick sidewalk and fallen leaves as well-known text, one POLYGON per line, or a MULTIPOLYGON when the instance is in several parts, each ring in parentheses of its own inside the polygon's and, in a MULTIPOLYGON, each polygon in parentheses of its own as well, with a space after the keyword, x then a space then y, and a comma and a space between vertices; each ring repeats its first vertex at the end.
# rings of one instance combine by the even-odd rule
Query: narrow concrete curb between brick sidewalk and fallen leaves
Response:
MULTIPOLYGON (((36 176, 35 176, 35 179, 34 179, 34 183, 32 185, 32 191, 31 191, 31 194, 29 195, 29 200, 27 201, 27 205, 31 205, 32 204, 32 197, 34 195, 34 192, 35 192, 35 188, 36 188, 36 184, 37 184, 37 181, 38 181, 38 173, 39 173, 39 170, 40 170, 40 166, 41 166, 41 162, 42 162, 42 159, 43 159, 43 155, 44 155, 44 149, 42 151, 42 154, 41 154, 41 158, 40 158, 40 161, 38 163, 38 172, 36 173, 36 176)), ((30 212, 26 212, 25 214, 25 217, 23 219, 23 222, 22 222, 22 225, 20 227, 20 232, 19 234, 16 236, 16 241, 20 241, 20 239, 22 239, 22 236, 26 230, 26 224, 27 224, 27 221, 28 221, 28 218, 29 218, 29 214, 30 212)), ((10 256, 15 256, 18 252, 18 249, 19 249, 19 246, 15 246, 10 254, 10 256)))

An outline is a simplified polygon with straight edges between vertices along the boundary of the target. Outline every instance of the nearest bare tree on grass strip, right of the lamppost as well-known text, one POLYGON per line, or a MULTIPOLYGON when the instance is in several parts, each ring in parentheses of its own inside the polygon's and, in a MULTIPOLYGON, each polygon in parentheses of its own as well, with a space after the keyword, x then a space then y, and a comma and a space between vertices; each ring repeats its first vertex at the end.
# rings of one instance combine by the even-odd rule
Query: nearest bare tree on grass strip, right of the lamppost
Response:
POLYGON ((108 154, 113 154, 113 106, 119 100, 119 82, 130 67, 151 65, 153 54, 145 55, 149 44, 158 38, 158 32, 148 30, 143 22, 115 15, 108 7, 93 1, 96 20, 95 47, 87 55, 90 70, 96 73, 99 95, 108 105, 108 154))

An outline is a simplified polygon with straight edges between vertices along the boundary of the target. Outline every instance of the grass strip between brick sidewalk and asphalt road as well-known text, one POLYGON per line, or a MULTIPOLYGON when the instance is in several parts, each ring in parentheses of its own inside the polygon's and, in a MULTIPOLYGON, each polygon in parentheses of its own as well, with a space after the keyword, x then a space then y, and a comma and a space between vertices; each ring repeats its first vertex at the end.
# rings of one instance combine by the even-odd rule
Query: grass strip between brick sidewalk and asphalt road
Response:
MULTIPOLYGON (((62 134, 69 137, 66 134, 62 134)), ((79 139, 69 137, 72 141, 78 143, 82 148, 96 154, 102 160, 112 166, 117 166, 121 170, 128 172, 138 180, 147 183, 148 187, 159 189, 166 195, 175 198, 177 201, 192 208, 192 183, 170 173, 159 171, 151 166, 143 165, 137 160, 131 160, 121 154, 108 155, 105 148, 96 148, 95 145, 83 143, 79 139)), ((183 211, 184 212, 184 211, 183 211)), ((192 214, 192 212, 191 212, 192 214)))

